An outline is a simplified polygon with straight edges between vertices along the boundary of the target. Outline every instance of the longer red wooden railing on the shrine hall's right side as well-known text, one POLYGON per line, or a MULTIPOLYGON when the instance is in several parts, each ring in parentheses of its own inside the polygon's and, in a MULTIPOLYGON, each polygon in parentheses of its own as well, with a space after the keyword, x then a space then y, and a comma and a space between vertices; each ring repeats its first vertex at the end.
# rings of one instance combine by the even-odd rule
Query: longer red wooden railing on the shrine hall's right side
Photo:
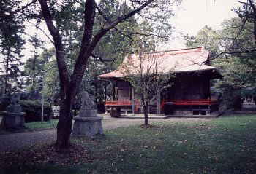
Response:
POLYGON ((162 100, 161 109, 165 106, 165 104, 171 103, 172 105, 178 106, 209 106, 209 105, 216 105, 218 103, 217 100, 214 99, 200 99, 200 100, 162 100))

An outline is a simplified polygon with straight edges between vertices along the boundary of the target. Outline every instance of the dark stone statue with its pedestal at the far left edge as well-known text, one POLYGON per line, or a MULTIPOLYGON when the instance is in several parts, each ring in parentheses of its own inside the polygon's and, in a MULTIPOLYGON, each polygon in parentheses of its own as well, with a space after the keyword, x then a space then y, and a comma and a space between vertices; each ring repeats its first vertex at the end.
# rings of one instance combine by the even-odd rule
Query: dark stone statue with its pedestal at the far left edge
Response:
POLYGON ((20 130, 25 128, 25 113, 22 112, 21 106, 18 103, 20 94, 13 94, 10 100, 10 105, 7 106, 7 111, 2 111, 0 114, 4 116, 1 120, 0 127, 4 130, 20 130))

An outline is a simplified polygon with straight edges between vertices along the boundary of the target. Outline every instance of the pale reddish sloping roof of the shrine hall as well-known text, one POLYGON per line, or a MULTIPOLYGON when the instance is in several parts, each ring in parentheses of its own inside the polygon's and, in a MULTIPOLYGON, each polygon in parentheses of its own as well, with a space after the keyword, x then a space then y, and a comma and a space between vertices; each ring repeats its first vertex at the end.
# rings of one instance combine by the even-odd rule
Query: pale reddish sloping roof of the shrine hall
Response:
MULTIPOLYGON (((146 73, 148 66, 154 63, 157 65, 157 72, 165 74, 170 72, 205 71, 215 69, 213 66, 206 65, 208 55, 209 52, 204 50, 203 47, 154 52, 140 56, 127 55, 117 70, 99 75, 98 77, 105 79, 124 77, 129 74, 139 74, 141 69, 143 69, 143 73, 146 73)), ((152 69, 151 71, 154 70, 152 69)))

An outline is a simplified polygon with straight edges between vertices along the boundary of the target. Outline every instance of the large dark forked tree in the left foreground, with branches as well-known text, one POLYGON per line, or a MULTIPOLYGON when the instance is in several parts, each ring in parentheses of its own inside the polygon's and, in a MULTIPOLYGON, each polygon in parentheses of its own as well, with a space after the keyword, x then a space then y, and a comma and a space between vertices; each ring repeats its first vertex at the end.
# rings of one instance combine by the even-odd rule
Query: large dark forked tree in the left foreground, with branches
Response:
MULTIPOLYGON (((45 23, 47 24, 50 35, 52 36, 53 44, 56 50, 56 60, 59 69, 60 87, 61 87, 61 109, 59 123, 57 126, 57 141, 56 147, 58 149, 66 149, 69 147, 70 134, 72 131, 72 114, 71 106, 72 101, 75 99, 75 94, 83 79, 86 71, 86 66, 90 56, 92 55, 95 47, 105 36, 108 31, 116 30, 116 26, 124 23, 130 17, 137 15, 138 17, 146 17, 151 20, 152 28, 156 30, 161 28, 161 32, 154 32, 154 30, 144 33, 148 36, 168 36, 168 17, 173 15, 170 7, 173 6, 178 0, 146 0, 146 1, 129 1, 127 4, 120 4, 119 9, 115 12, 116 15, 105 15, 105 6, 99 6, 94 0, 86 1, 46 1, 39 0, 41 14, 45 23), (75 66, 70 73, 67 66, 67 58, 64 47, 62 33, 59 30, 58 20, 55 19, 55 13, 59 9, 67 7, 70 2, 83 3, 83 23, 80 23, 80 30, 83 31, 83 37, 80 41, 79 52, 75 58, 75 66), (102 16, 102 23, 98 30, 94 30, 95 17, 99 13, 102 16)), ((106 1, 108 2, 108 1, 106 1)), ((76 4, 74 3, 74 5, 76 4)), ((142 34, 142 33, 141 33, 142 34)))

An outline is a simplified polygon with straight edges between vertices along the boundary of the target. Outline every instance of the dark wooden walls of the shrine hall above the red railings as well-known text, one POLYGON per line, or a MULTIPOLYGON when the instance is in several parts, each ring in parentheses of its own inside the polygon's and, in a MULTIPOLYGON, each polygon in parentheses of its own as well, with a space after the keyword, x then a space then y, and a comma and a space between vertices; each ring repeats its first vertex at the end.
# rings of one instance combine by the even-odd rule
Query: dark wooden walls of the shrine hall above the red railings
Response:
MULTIPOLYGON (((161 92, 162 99, 193 100, 208 99, 210 97, 210 79, 208 72, 176 74, 173 87, 161 92)), ((132 92, 129 82, 115 81, 116 99, 131 100, 132 92)))

